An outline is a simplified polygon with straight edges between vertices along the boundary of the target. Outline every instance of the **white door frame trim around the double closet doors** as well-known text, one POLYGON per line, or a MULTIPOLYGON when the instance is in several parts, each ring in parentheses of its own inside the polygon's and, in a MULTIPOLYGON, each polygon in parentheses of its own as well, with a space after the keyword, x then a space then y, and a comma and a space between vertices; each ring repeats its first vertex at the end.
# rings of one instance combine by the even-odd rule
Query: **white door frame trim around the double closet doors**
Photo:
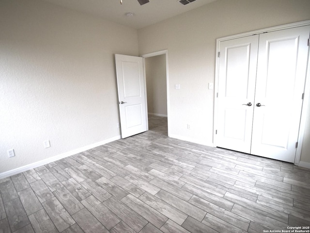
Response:
MULTIPOLYGON (((295 27, 301 27, 301 26, 307 26, 307 25, 310 25, 310 20, 296 22, 296 23, 290 23, 290 24, 285 24, 285 25, 280 25, 280 26, 270 27, 270 28, 265 28, 265 29, 260 29, 260 30, 251 31, 251 32, 247 32, 247 33, 225 36, 225 37, 221 37, 221 38, 217 39, 215 92, 214 92, 214 121, 213 121, 213 144, 214 144, 214 147, 217 146, 217 142, 216 142, 216 133, 217 132, 216 131, 217 131, 217 109, 218 109, 218 105, 217 105, 218 68, 219 68, 218 51, 219 51, 220 42, 225 41, 225 40, 240 38, 240 37, 244 37, 244 36, 249 36, 249 35, 253 35, 253 34, 273 32, 273 31, 279 31, 279 30, 283 30, 283 29, 289 29, 289 28, 295 28, 295 27)), ((308 48, 308 54, 309 54, 309 48, 308 48)), ((307 68, 306 82, 305 82, 305 88, 304 88, 304 100, 302 103, 301 119, 300 119, 300 125, 299 125, 299 133, 298 133, 298 141, 297 141, 299 146, 297 147, 297 150, 296 150, 295 162, 294 162, 294 164, 297 166, 300 162, 301 149, 302 149, 302 143, 303 143, 303 138, 304 138, 305 126, 306 126, 307 111, 310 111, 310 109, 308 109, 309 98, 310 98, 310 59, 308 59, 308 68, 307 68)))

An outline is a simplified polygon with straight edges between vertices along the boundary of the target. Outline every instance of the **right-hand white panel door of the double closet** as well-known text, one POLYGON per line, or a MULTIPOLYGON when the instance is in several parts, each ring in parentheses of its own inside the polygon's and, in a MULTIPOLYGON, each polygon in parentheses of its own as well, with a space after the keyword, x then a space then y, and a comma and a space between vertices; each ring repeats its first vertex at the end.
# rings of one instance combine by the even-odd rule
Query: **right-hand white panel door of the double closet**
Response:
POLYGON ((309 32, 304 26, 260 35, 251 154, 294 162, 309 32))

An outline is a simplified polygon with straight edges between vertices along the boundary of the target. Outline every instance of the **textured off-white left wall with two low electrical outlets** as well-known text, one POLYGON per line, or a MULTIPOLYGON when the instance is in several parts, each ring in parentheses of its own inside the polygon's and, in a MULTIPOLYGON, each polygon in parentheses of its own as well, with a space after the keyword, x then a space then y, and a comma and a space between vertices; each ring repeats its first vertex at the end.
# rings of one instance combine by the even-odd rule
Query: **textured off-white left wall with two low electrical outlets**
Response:
POLYGON ((137 30, 0 1, 0 173, 119 137, 114 53, 138 55, 137 30))

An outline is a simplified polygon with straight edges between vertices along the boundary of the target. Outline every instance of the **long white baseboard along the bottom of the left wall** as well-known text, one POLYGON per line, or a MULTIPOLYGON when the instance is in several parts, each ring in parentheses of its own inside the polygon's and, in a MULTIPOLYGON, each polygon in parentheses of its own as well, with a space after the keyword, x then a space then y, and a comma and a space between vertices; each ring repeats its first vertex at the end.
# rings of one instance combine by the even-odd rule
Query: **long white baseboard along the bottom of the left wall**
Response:
POLYGON ((121 136, 115 136, 115 137, 112 137, 112 138, 109 138, 109 139, 106 139, 106 140, 103 140, 103 141, 100 141, 100 142, 93 143, 91 145, 87 145, 85 147, 81 147, 81 148, 78 148, 78 149, 75 149, 75 150, 71 150, 71 151, 59 154, 59 155, 55 155, 53 157, 50 157, 50 158, 47 158, 47 159, 44 159, 44 160, 41 160, 41 161, 38 161, 38 162, 35 162, 35 163, 32 163, 32 164, 29 164, 29 165, 26 165, 26 166, 21 166, 21 167, 18 167, 18 168, 9 170, 9 171, 2 172, 2 173, 0 173, 0 179, 16 175, 16 174, 18 174, 20 172, 24 172, 24 171, 27 171, 29 169, 32 169, 32 168, 35 168, 35 167, 38 167, 38 166, 46 165, 48 163, 51 163, 51 162, 54 162, 54 161, 66 158, 68 156, 71 156, 71 155, 74 155, 74 154, 78 154, 78 153, 83 152, 85 150, 90 150, 90 149, 93 149, 95 147, 99 147, 99 146, 107 144, 109 142, 116 141, 116 140, 118 140, 120 138, 121 138, 121 136))

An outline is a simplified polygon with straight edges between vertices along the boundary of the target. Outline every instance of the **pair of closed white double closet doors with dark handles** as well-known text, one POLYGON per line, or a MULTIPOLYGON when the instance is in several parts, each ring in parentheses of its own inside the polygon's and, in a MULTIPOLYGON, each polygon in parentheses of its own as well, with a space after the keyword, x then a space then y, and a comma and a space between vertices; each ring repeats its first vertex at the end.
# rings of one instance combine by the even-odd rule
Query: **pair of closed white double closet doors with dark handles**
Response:
POLYGON ((294 163, 310 26, 221 41, 217 147, 294 163))

